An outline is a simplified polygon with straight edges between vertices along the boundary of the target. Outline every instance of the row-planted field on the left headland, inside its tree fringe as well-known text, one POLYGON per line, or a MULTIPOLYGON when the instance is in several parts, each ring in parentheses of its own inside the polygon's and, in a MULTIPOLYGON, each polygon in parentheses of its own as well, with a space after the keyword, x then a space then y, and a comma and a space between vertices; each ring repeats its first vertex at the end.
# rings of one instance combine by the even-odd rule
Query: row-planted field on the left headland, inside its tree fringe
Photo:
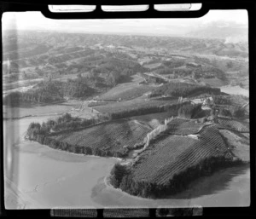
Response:
POLYGON ((73 132, 63 131, 49 135, 49 138, 79 147, 80 153, 96 154, 93 152, 98 150, 100 152, 97 155, 119 156, 125 147, 132 147, 143 141, 148 131, 150 129, 147 126, 132 120, 119 119, 73 132))

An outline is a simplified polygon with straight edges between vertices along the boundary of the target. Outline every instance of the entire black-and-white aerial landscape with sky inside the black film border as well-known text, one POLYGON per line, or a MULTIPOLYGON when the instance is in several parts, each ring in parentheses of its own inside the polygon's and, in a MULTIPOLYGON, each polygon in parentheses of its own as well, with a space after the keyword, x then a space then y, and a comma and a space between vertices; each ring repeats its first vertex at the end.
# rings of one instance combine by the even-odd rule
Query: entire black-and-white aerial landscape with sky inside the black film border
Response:
POLYGON ((5 207, 250 205, 247 15, 232 12, 4 14, 5 207))

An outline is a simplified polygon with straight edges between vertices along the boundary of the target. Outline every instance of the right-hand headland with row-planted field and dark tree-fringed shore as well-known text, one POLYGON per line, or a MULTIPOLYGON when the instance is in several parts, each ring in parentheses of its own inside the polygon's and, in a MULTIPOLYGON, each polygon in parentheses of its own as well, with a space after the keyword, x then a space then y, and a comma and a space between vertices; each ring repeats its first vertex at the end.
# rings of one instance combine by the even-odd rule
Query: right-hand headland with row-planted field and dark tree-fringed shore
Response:
MULTIPOLYGON (((190 135, 188 130, 186 135, 179 132, 160 135, 131 166, 116 166, 111 176, 113 186, 144 198, 164 198, 182 191, 196 177, 243 160, 244 155, 233 153, 215 126, 205 127, 197 136, 191 135, 193 131, 190 135), (116 178, 119 169, 124 169, 123 175, 116 178)), ((242 152, 243 148, 236 150, 242 152)))

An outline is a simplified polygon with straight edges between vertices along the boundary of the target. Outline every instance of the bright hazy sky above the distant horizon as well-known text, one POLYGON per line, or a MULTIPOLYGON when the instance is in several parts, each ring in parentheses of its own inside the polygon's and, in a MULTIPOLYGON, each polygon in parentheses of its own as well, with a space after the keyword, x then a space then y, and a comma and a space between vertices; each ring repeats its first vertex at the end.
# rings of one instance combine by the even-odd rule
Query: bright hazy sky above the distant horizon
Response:
POLYGON ((211 10, 195 19, 51 20, 40 12, 3 14, 3 30, 54 30, 61 32, 119 32, 131 34, 182 35, 212 21, 247 25, 247 10, 211 10))

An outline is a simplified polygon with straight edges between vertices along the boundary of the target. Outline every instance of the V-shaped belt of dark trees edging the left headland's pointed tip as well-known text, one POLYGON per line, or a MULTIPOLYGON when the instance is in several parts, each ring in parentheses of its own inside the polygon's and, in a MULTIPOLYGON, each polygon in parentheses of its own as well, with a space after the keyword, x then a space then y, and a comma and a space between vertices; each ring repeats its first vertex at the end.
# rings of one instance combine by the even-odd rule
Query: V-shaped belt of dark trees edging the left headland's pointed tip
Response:
POLYGON ((100 122, 108 121, 106 117, 80 119, 73 118, 69 113, 55 119, 49 119, 47 122, 31 123, 26 130, 26 138, 30 141, 38 141, 38 143, 47 145, 54 149, 60 149, 71 153, 83 153, 87 155, 96 155, 102 157, 118 157, 123 158, 127 155, 128 149, 120 148, 119 150, 97 147, 81 146, 76 144, 70 144, 66 141, 59 141, 55 139, 55 135, 64 135, 71 130, 84 129, 90 125, 100 122))

